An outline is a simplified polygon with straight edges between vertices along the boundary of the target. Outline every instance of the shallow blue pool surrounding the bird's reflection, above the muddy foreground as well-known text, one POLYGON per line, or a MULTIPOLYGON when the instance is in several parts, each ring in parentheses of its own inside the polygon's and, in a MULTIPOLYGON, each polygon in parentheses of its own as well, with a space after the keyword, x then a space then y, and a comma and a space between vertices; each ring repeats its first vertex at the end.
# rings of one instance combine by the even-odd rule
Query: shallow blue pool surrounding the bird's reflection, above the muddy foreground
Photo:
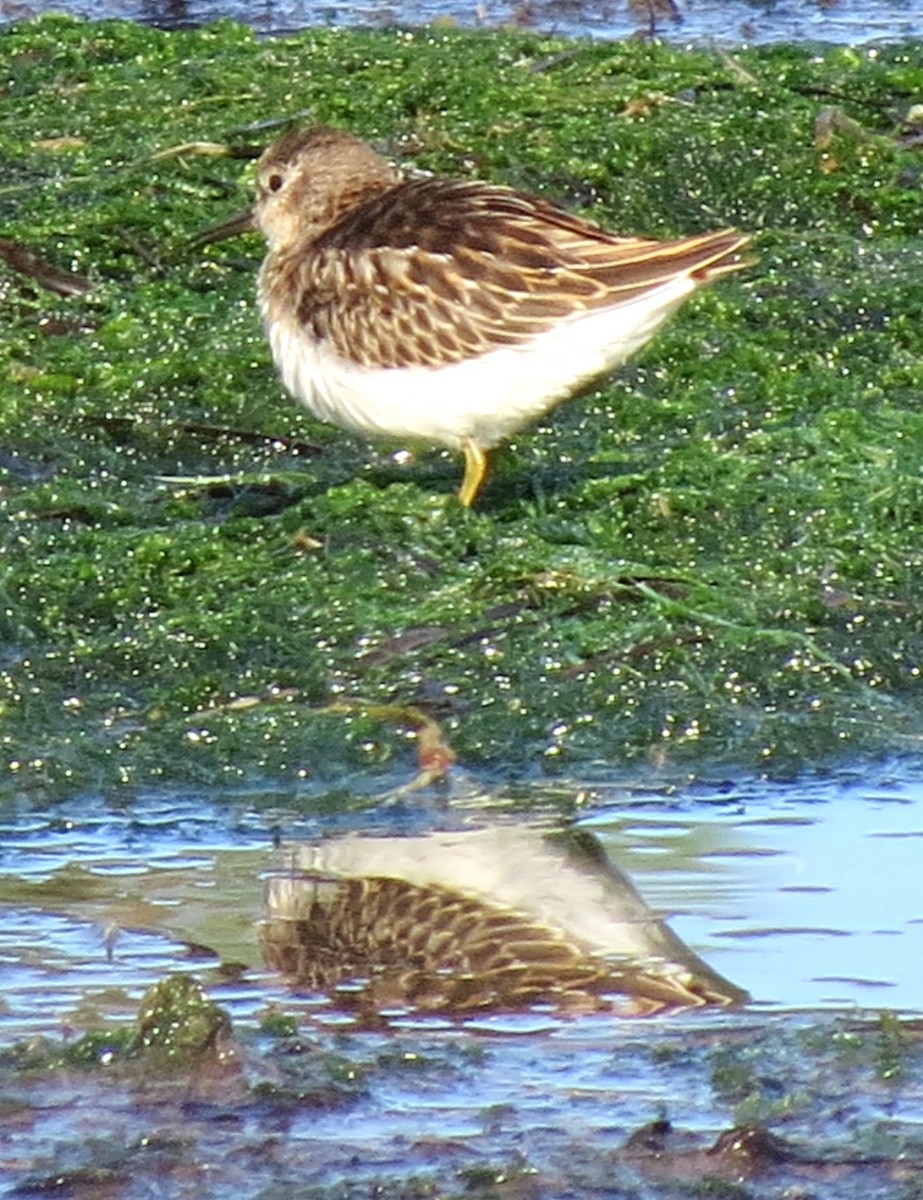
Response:
MULTIPOLYGON (((759 1010, 923 1012, 923 781, 901 764, 871 782, 753 781, 583 790, 581 823, 652 907, 759 1010)), ((557 788, 561 799, 561 788, 557 788)), ((169 970, 248 971, 214 982, 236 1020, 288 994, 259 964, 256 922, 274 838, 348 827, 419 834, 484 824, 502 797, 370 805, 317 816, 274 796, 83 798, 0 815, 0 1040, 130 1018, 169 970)), ((549 818, 546 817, 545 821, 549 818)), ((299 1002, 304 1008, 305 1002, 299 1002)), ((311 1001, 313 1019, 341 1018, 311 1001)), ((413 1019, 413 1021, 419 1019, 413 1019)), ((412 1022, 413 1022, 412 1021, 412 1022)), ((504 1019, 487 1021, 490 1027, 504 1019)), ((514 1028, 547 1026, 516 1018, 514 1028)))

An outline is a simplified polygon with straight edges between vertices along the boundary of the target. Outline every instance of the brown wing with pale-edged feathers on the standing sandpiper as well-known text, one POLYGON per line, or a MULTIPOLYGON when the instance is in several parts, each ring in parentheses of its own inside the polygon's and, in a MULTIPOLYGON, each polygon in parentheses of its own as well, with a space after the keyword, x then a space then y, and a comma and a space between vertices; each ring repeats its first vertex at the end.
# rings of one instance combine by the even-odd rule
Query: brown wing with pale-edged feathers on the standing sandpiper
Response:
POLYGON ((361 205, 290 269, 318 340, 365 366, 443 366, 684 272, 733 270, 745 241, 616 238, 503 187, 425 179, 361 205))

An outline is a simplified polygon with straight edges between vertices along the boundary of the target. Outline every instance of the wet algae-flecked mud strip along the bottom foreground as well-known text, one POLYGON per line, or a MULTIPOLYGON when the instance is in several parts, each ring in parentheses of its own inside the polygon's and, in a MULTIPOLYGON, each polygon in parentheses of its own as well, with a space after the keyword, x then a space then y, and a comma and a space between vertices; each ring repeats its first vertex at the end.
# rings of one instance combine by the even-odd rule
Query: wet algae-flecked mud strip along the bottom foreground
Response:
POLYGON ((22 1156, 5 1174, 13 1195, 125 1200, 919 1195, 918 1030, 840 1018, 658 1033, 652 1044, 598 1019, 498 1044, 451 1031, 306 1036, 286 1020, 248 1033, 174 977, 121 1038, 0 1056, 22 1156), (170 1031, 148 1045, 152 1007, 170 1031), (174 1039, 179 1080, 164 1066, 174 1039), (694 1087, 659 1104, 677 1072, 694 1087), (533 1090, 510 1093, 513 1073, 533 1090), (92 1118, 62 1135, 59 1110, 78 1096, 92 1118))

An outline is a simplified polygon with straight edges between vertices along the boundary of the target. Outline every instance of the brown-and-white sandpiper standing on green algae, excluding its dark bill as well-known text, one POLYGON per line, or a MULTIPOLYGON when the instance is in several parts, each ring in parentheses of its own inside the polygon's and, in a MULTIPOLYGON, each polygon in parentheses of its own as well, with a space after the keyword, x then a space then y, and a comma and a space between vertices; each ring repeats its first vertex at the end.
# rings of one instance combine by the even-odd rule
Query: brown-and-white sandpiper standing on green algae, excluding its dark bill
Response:
POLYGON ((617 236, 509 187, 406 178, 325 126, 271 145, 258 186, 286 388, 342 428, 461 451, 466 506, 492 446, 622 364, 748 241, 617 236))

